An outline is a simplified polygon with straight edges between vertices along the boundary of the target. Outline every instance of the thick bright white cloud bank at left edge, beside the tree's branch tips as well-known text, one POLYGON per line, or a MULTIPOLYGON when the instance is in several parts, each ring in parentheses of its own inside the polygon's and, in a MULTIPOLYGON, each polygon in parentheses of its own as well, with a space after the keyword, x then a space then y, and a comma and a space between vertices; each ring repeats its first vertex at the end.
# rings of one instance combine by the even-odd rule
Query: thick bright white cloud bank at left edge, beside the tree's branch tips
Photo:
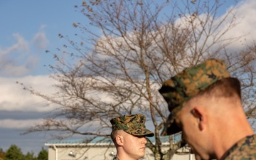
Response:
POLYGON ((46 112, 53 110, 53 105, 48 105, 45 100, 30 92, 23 90, 21 85, 16 83, 23 82, 26 86, 35 88, 36 91, 50 94, 53 93, 53 79, 48 75, 26 76, 23 78, 0 78, 0 110, 7 111, 36 111, 46 112))

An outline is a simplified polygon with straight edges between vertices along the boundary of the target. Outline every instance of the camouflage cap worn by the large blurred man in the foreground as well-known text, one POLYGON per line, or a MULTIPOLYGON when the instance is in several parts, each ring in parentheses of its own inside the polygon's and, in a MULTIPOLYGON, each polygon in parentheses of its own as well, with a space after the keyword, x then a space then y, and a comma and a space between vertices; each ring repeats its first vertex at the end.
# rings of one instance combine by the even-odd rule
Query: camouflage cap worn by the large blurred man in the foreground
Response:
POLYGON ((182 109, 184 102, 196 96, 209 85, 217 80, 229 78, 230 73, 225 68, 225 63, 218 59, 209 59, 204 63, 186 68, 176 76, 166 80, 159 92, 168 103, 169 114, 161 136, 180 132, 174 122, 178 112, 182 109))

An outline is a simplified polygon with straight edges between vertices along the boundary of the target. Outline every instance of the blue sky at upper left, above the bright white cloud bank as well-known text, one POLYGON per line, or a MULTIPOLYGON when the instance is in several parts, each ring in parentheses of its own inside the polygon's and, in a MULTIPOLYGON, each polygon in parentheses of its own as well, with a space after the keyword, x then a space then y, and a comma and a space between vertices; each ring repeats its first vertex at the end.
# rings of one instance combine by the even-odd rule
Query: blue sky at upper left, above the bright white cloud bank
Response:
MULTIPOLYGON (((74 6, 81 3, 81 0, 25 0, 22 3, 12 0, 0 1, 0 50, 12 50, 4 58, 9 60, 9 63, 12 61, 11 67, 16 67, 16 70, 20 71, 7 73, 11 76, 46 73, 42 66, 52 63, 53 58, 46 54, 45 50, 55 51, 55 48, 61 45, 59 33, 74 35, 73 22, 85 19, 82 14, 75 11, 74 6)), ((1 73, 3 74, 3 71, 1 73)))

